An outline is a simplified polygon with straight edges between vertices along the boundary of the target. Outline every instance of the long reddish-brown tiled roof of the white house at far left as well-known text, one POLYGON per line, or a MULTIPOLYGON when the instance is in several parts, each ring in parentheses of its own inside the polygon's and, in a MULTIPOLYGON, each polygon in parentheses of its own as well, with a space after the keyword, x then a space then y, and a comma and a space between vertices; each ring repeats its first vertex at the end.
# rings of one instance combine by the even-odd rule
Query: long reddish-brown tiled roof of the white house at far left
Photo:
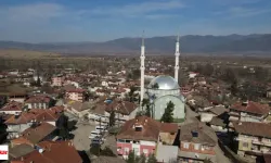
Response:
MULTIPOLYGON (((59 108, 57 108, 59 109, 59 108)), ((22 112, 18 116, 12 115, 5 124, 26 124, 31 121, 36 122, 56 122, 61 114, 55 109, 40 110, 33 109, 28 112, 22 112)))

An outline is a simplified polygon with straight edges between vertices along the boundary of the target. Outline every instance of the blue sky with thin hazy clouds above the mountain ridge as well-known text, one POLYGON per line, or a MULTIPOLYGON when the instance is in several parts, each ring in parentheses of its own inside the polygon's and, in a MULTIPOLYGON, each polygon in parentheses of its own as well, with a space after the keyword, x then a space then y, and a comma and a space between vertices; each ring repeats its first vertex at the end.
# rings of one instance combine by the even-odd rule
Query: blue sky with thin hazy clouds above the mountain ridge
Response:
POLYGON ((0 40, 270 34, 271 0, 0 0, 0 40))

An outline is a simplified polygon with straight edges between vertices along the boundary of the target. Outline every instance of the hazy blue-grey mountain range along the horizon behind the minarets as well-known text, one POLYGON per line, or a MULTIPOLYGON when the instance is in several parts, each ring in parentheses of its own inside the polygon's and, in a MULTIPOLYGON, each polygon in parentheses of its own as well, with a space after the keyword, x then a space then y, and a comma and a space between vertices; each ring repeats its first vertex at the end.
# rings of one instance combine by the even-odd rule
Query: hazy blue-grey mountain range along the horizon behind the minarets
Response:
MULTIPOLYGON (((171 54, 175 52, 176 37, 145 38, 146 52, 150 54, 171 54)), ((47 42, 26 43, 0 41, 0 49, 23 49, 52 51, 61 53, 139 53, 141 38, 119 38, 104 42, 47 42)), ((180 38, 181 51, 184 53, 246 53, 271 52, 271 34, 198 36, 186 35, 180 38)))

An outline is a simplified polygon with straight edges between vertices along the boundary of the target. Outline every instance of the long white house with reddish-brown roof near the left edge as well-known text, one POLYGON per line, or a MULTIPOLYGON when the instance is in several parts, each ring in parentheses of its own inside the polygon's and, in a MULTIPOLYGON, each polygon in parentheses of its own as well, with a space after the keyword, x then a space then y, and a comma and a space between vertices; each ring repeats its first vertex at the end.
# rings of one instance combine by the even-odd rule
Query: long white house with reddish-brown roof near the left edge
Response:
POLYGON ((54 106, 49 110, 33 109, 28 112, 12 115, 4 122, 8 126, 8 138, 12 139, 20 136, 21 133, 29 128, 34 123, 47 122, 56 126, 63 110, 63 106, 54 106))

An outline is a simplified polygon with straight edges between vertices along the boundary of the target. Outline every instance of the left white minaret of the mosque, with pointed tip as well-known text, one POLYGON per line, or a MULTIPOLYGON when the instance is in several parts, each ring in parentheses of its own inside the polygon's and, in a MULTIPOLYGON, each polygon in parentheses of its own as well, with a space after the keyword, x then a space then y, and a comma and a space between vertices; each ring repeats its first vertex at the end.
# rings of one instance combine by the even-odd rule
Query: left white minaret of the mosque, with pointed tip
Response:
POLYGON ((142 36, 142 45, 141 45, 141 55, 140 55, 140 70, 141 70, 141 77, 140 77, 140 105, 142 104, 144 98, 144 77, 145 77, 145 46, 144 46, 144 32, 142 36))

